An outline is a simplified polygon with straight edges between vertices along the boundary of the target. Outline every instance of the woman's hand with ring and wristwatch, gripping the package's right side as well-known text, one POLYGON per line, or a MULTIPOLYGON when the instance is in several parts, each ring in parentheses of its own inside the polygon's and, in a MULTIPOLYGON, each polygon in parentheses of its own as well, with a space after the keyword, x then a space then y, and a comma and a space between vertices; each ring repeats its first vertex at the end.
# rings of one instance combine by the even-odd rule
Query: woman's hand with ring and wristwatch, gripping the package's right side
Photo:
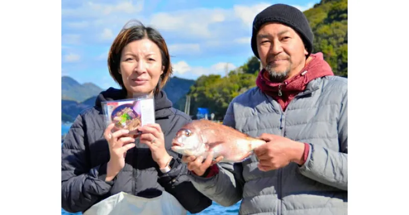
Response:
POLYGON ((149 146, 152 152, 152 159, 157 163, 159 168, 165 168, 172 158, 165 148, 165 138, 162 132, 161 125, 147 124, 139 127, 138 130, 142 132, 140 142, 149 146))

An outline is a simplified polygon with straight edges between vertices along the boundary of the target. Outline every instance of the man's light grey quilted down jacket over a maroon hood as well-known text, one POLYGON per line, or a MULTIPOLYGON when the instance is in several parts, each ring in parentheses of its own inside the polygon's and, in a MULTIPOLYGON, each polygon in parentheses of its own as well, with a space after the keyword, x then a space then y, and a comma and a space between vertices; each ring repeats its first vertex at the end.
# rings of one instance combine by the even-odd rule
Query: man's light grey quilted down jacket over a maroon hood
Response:
POLYGON ((219 163, 219 173, 211 178, 190 174, 193 184, 224 206, 242 200, 240 214, 347 214, 347 89, 346 78, 311 80, 285 112, 258 87, 239 95, 228 107, 225 125, 253 137, 268 133, 309 143, 307 161, 263 172, 252 156, 242 163, 219 163))

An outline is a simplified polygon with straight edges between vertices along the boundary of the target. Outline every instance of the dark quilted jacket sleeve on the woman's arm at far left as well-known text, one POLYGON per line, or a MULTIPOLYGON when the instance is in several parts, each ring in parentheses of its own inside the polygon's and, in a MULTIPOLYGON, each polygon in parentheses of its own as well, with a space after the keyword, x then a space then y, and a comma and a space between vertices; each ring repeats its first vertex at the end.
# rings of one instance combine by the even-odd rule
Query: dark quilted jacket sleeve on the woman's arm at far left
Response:
POLYGON ((105 182, 106 163, 90 167, 85 133, 79 115, 61 147, 61 207, 68 212, 85 211, 104 199, 115 181, 105 182))

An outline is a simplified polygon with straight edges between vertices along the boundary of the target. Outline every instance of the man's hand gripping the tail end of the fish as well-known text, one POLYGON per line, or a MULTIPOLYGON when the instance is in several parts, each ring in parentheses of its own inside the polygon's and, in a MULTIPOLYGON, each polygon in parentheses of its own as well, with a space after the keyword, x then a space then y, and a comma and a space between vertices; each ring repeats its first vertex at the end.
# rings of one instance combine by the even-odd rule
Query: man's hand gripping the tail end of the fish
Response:
POLYGON ((305 144, 288 138, 262 134, 258 139, 267 143, 254 149, 259 159, 258 168, 269 171, 287 166, 290 162, 302 163, 305 144))

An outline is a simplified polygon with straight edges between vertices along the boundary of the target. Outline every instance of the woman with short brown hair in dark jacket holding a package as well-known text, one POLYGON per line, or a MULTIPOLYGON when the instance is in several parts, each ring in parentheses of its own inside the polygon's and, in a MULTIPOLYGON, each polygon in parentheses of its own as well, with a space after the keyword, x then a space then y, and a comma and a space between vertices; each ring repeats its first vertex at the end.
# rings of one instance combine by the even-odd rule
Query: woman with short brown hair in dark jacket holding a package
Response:
POLYGON ((108 54, 108 69, 121 90, 101 92, 68 132, 61 152, 61 205, 85 211, 121 191, 146 198, 173 195, 191 213, 212 204, 189 182, 186 164, 171 151, 177 130, 189 116, 172 107, 161 88, 172 74, 165 40, 142 24, 124 28, 108 54), (106 126, 101 102, 153 95, 155 124, 139 128, 138 138, 106 126))

